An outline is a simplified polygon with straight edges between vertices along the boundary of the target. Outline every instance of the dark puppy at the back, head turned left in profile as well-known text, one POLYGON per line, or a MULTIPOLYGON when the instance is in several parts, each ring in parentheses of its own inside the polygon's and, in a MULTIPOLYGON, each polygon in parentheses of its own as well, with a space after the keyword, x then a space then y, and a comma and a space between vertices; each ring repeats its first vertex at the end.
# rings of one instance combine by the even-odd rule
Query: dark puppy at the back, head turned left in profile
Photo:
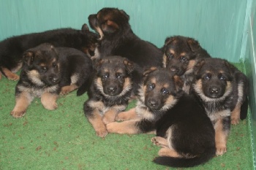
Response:
POLYGON ((121 55, 134 62, 133 74, 138 78, 134 78, 135 84, 140 83, 143 68, 162 66, 162 50, 133 33, 129 25, 129 15, 124 10, 103 8, 97 14, 89 15, 89 24, 100 35, 95 57, 121 55))

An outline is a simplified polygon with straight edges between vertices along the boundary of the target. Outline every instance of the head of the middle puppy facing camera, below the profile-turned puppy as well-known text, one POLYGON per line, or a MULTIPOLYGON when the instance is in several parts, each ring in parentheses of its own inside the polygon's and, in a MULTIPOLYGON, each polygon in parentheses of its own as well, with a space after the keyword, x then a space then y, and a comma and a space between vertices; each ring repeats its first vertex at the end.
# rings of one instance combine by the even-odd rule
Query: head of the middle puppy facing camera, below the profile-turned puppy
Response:
POLYGON ((120 56, 109 56, 94 61, 97 77, 94 83, 104 96, 122 96, 132 89, 131 61, 120 56))

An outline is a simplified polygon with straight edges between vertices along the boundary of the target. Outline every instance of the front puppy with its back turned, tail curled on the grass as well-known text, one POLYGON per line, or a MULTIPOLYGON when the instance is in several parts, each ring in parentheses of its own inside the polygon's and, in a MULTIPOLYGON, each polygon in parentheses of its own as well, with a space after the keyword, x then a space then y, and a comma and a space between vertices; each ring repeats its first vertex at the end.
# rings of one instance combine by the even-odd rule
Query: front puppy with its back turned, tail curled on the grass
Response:
POLYGON ((214 128, 197 98, 181 90, 183 84, 173 72, 151 68, 144 75, 137 106, 132 109, 137 117, 109 123, 108 132, 156 131, 157 136, 151 141, 162 149, 154 162, 166 166, 197 166, 213 158, 216 152, 214 128))

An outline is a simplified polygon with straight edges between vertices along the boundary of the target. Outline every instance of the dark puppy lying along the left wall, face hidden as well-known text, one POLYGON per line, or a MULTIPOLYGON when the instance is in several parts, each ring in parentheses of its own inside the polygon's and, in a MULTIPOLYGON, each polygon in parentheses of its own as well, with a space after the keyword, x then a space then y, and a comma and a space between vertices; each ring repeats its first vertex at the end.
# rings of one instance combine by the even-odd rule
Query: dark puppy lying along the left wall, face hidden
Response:
POLYGON ((22 54, 30 48, 48 42, 54 47, 72 47, 84 53, 94 53, 98 35, 89 31, 86 24, 82 30, 60 28, 40 33, 24 34, 0 42, 0 80, 4 74, 9 80, 18 80, 15 74, 22 66, 22 54))

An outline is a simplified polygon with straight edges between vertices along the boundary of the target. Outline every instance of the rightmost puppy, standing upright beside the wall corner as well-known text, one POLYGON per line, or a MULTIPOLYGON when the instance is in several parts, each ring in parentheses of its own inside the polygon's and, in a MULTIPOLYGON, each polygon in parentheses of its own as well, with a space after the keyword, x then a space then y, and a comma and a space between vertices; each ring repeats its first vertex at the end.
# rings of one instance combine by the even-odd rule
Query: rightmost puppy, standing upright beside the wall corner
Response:
POLYGON ((202 59, 195 72, 193 90, 214 125, 217 155, 222 155, 227 152, 230 117, 232 124, 246 117, 248 80, 235 66, 220 58, 202 59))

